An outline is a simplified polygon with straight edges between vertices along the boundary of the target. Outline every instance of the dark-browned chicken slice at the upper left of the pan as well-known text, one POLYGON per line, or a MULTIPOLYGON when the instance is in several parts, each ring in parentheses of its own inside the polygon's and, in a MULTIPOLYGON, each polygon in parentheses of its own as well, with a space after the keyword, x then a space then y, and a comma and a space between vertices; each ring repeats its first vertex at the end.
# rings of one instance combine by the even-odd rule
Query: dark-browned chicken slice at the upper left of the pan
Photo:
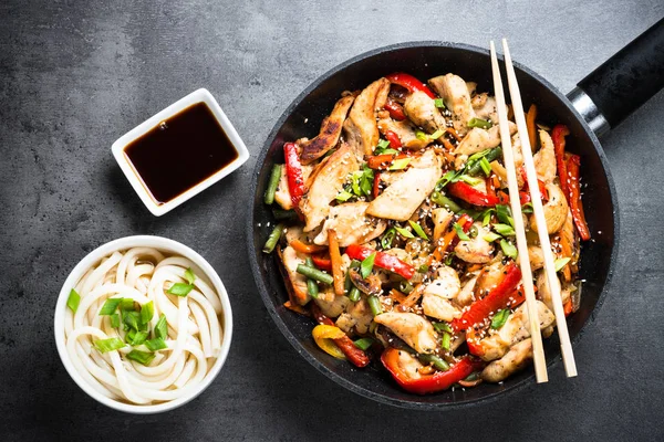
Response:
POLYGON ((330 116, 323 119, 321 130, 315 138, 298 140, 298 144, 302 148, 302 155, 300 157, 302 164, 308 165, 315 161, 336 146, 339 137, 341 136, 343 122, 345 120, 354 99, 355 97, 352 95, 342 97, 334 105, 330 116))

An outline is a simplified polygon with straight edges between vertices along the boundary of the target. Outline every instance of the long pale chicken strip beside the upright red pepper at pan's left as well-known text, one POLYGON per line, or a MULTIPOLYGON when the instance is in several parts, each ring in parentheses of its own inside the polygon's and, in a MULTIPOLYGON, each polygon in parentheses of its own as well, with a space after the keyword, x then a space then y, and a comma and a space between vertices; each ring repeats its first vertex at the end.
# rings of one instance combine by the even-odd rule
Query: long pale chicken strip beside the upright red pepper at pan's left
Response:
POLYGON ((300 201, 300 209, 307 218, 305 232, 323 222, 330 213, 330 202, 343 190, 347 176, 357 169, 360 165, 350 145, 343 144, 328 157, 325 167, 317 172, 309 192, 300 201))

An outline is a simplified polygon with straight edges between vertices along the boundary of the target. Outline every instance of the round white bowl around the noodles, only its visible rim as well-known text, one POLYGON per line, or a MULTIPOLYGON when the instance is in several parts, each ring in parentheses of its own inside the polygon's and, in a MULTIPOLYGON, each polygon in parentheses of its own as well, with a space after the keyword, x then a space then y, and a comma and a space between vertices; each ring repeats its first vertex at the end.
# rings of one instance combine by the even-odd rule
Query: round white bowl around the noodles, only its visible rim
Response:
POLYGON ((152 414, 159 413, 163 411, 173 410, 185 403, 189 402, 191 399, 196 398, 198 394, 203 392, 211 382, 215 380, 217 375, 219 375, 219 370, 224 366, 226 361, 226 357, 228 356, 228 350, 230 349, 230 340, 232 337, 232 312, 230 309, 230 301, 228 299, 228 293, 226 293, 226 288, 224 287, 224 283, 219 278, 219 275, 212 266, 198 253, 189 249, 188 246, 173 240, 168 240, 162 236, 149 236, 149 235, 139 235, 139 236, 125 236, 115 241, 107 242, 103 244, 92 252, 90 252, 70 273, 62 290, 60 291, 60 295, 58 297, 58 304, 55 305, 55 345, 58 346, 58 352, 60 354, 60 359, 64 365, 64 368, 70 373, 74 382, 83 389, 89 396, 96 399, 98 402, 104 406, 111 407, 115 410, 124 411, 127 413, 134 414, 152 414), (219 357, 208 371, 207 376, 203 379, 203 381, 196 387, 196 389, 191 390, 188 396, 184 396, 181 398, 175 399, 169 402, 158 403, 155 406, 136 406, 126 402, 120 402, 113 399, 110 399, 101 393, 98 393, 95 389, 93 389, 83 377, 79 373, 74 365, 72 364, 69 352, 66 351, 66 343, 64 339, 64 313, 68 308, 66 299, 69 298, 69 293, 71 288, 76 284, 76 282, 83 276, 85 271, 87 271, 91 266, 97 264, 100 260, 104 256, 108 256, 115 251, 126 250, 136 246, 147 246, 155 248, 159 251, 166 253, 178 254, 185 256, 194 264, 196 264, 200 270, 205 273, 205 275, 209 278, 212 286, 219 294, 221 299, 221 324, 224 326, 224 338, 221 341, 221 351, 219 352, 219 357))

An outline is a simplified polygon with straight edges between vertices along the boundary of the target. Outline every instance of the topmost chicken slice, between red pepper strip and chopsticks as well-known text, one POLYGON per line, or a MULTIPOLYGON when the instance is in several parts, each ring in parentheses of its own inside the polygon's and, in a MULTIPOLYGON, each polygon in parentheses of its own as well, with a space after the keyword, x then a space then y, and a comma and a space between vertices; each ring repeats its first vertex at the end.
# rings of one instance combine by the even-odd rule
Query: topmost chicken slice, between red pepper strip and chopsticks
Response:
POLYGON ((443 97, 452 112, 454 128, 460 136, 468 130, 468 122, 475 117, 470 94, 464 78, 454 74, 436 76, 428 81, 429 86, 443 97))

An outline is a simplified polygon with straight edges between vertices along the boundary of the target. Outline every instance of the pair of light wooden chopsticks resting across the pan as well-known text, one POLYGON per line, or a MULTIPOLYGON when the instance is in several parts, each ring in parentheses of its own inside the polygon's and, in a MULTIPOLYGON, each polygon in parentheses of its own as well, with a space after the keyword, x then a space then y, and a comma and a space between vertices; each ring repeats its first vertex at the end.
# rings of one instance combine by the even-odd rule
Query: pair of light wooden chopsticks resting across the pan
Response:
MULTIPOLYGON (((538 235, 542 252, 544 255, 544 272, 547 275, 547 284, 551 292, 553 302, 553 313, 556 314, 556 325, 560 337, 560 347, 562 350, 562 360, 564 370, 568 377, 577 376, 577 364, 574 362, 574 354, 570 343, 570 335, 567 328, 564 318, 564 308, 560 296, 560 282, 556 275, 556 265, 553 264, 553 252, 551 252, 551 242, 547 232, 547 221, 544 219, 544 210, 542 208, 541 194, 537 182, 537 172, 535 170, 535 161, 532 160, 532 150, 528 138, 528 129, 526 126, 526 116, 523 114, 523 105, 521 103, 521 93, 517 83, 515 67, 512 65, 507 40, 502 39, 502 51, 505 53, 505 65, 507 71, 507 83, 511 96, 515 120, 517 123, 519 138, 521 140, 521 155, 523 157, 523 166, 528 177, 528 189, 530 190, 530 200, 532 210, 537 221, 538 235)), ((519 264, 521 266, 523 288, 526 291, 526 306, 528 308, 528 319, 530 322, 530 336, 532 338, 532 352, 535 359, 535 375, 539 382, 549 380, 547 373, 547 360, 544 358, 544 349, 542 347, 542 336, 539 325, 539 314, 537 299, 535 298, 535 287, 532 286, 532 270, 530 269, 530 259, 528 256, 528 244, 526 242, 526 229, 523 227, 523 218, 521 215, 521 203, 519 200, 519 188, 517 185, 517 171, 515 168, 513 151, 511 137, 509 134, 509 125, 505 104, 505 93, 502 92, 502 78, 498 66, 498 57, 496 56, 496 48, 494 41, 490 42, 491 67, 494 72, 494 90, 496 92, 496 102, 498 104, 498 119, 500 128, 500 139, 502 144, 502 152, 505 156, 505 168, 507 169, 507 179, 509 186, 509 201, 511 206, 512 217, 515 220, 515 230, 517 233, 517 250, 519 251, 519 264)), ((564 178, 561 178, 564 179, 564 178)))

